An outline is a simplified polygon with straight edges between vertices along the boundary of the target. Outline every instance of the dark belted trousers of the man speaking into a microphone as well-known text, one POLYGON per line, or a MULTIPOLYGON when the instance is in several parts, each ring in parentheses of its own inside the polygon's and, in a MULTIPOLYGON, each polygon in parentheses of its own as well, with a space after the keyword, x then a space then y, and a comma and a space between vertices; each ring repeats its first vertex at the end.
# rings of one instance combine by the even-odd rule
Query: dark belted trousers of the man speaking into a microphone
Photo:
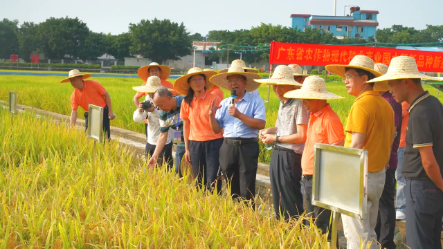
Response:
MULTIPOLYGON (((234 138, 233 138, 234 139, 234 138)), ((242 140, 241 138, 235 138, 242 140)), ((245 139, 246 140, 246 139, 245 139)), ((220 169, 230 181, 233 198, 253 201, 255 208, 255 179, 258 167, 258 142, 234 145, 225 138, 220 148, 220 169)))

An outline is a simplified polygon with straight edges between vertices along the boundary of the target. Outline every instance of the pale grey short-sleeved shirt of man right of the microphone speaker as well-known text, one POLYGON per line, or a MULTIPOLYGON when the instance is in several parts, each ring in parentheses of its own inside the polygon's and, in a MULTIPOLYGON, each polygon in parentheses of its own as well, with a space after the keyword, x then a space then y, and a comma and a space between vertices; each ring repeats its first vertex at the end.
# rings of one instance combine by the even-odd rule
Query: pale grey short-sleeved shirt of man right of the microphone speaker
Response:
MULTIPOLYGON (((297 124, 306 124, 309 121, 309 114, 305 107, 303 107, 302 100, 289 99, 283 104, 280 100, 280 107, 278 107, 277 116, 277 132, 275 136, 288 136, 298 133, 297 124)), ((293 149, 298 154, 303 153, 305 143, 290 144, 286 142, 275 142, 275 145, 293 149)))

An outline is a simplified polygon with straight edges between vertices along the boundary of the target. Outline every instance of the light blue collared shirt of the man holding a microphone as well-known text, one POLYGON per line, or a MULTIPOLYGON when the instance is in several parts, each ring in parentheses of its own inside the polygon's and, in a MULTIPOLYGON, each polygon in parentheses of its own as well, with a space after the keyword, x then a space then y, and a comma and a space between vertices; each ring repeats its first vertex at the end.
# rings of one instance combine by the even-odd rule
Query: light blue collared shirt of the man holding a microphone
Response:
MULTIPOLYGON (((257 138, 258 129, 248 127, 238 118, 229 115, 230 99, 222 100, 220 102, 221 108, 215 113, 215 119, 219 122, 220 127, 224 128, 223 136, 225 138, 257 138)), ((245 92, 242 100, 237 102, 235 107, 248 117, 266 121, 264 102, 260 96, 245 92)))

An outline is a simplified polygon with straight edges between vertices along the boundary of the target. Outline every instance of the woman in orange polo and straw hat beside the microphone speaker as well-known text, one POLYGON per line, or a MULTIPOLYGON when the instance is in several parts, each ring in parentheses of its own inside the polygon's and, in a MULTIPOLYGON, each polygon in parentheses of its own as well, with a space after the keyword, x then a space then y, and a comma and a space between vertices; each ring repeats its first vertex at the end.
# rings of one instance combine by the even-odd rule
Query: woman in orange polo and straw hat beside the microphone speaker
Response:
MULTIPOLYGON (((214 133, 210 127, 208 111, 213 101, 220 104, 221 99, 207 88, 213 86, 209 78, 217 73, 190 68, 187 75, 174 82, 174 89, 185 95, 181 103, 180 116, 183 118, 183 138, 185 139, 185 158, 192 165, 197 178, 197 186, 205 186, 212 191, 219 172, 219 151, 223 135, 214 133)), ((221 184, 217 184, 221 188, 221 184)), ((217 187, 215 188, 217 191, 217 187)))

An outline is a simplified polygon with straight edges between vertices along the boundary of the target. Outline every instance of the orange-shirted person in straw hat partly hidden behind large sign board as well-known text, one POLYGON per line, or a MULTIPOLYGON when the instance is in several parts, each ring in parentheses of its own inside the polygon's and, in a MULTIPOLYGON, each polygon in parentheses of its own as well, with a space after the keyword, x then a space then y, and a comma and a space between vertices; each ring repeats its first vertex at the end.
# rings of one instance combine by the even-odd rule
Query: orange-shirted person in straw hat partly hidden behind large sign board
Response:
MULTIPOLYGON (((329 231, 329 219, 331 211, 312 205, 312 174, 314 174, 314 144, 316 142, 327 145, 345 144, 343 124, 337 113, 332 110, 327 100, 344 99, 341 96, 329 93, 326 90, 325 80, 316 75, 306 77, 300 90, 289 91, 284 94, 286 98, 301 100, 302 105, 309 111, 309 123, 305 149, 301 158, 303 185, 305 186, 305 198, 307 214, 311 215, 314 223, 323 234, 329 231)), ((331 232, 328 237, 330 239, 331 232)))

